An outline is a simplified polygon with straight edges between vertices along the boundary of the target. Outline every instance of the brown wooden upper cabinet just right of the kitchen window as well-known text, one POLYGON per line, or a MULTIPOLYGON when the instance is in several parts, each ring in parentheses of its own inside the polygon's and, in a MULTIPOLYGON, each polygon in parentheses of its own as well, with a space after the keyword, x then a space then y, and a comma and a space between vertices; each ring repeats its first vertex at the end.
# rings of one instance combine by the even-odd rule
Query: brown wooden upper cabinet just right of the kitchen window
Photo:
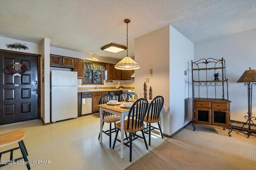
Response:
POLYGON ((105 79, 106 80, 121 80, 122 71, 115 68, 115 64, 106 64, 105 67, 105 79))

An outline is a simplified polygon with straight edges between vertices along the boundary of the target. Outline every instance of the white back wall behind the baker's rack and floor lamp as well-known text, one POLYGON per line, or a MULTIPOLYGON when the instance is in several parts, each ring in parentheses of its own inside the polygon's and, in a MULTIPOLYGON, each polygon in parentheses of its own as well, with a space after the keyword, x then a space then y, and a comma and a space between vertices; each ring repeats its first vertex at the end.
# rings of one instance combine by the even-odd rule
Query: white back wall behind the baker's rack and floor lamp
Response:
MULTIPOLYGON (((194 61, 202 58, 226 61, 226 78, 230 104, 230 119, 245 122, 248 112, 247 86, 237 83, 245 70, 256 69, 256 29, 196 43, 194 61)), ((256 116, 256 86, 253 87, 252 113, 256 116)))

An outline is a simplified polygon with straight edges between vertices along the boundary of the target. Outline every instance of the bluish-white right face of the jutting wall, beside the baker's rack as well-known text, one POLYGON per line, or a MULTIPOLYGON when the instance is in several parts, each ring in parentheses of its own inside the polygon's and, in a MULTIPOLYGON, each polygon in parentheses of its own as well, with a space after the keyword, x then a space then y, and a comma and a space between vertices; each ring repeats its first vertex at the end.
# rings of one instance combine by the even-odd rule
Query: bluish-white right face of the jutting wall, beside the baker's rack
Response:
POLYGON ((193 59, 194 44, 170 26, 170 134, 192 121, 193 59))

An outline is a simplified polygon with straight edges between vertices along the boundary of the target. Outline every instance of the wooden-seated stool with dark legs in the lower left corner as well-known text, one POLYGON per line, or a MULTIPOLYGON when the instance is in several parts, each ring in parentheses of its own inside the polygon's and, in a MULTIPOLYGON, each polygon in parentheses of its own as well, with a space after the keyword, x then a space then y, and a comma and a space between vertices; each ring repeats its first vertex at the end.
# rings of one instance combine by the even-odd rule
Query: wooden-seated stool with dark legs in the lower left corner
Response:
MULTIPOLYGON (((26 146, 23 142, 23 139, 25 138, 25 131, 22 129, 16 130, 16 131, 12 131, 9 133, 4 133, 2 135, 0 135, 0 147, 5 147, 7 145, 11 145, 13 143, 18 142, 20 147, 14 148, 14 149, 10 149, 10 150, 6 150, 4 152, 0 152, 0 160, 1 160, 1 156, 4 153, 10 152, 10 160, 12 160, 13 158, 13 151, 16 149, 20 149, 21 153, 22 153, 22 157, 21 158, 17 158, 13 161, 18 161, 21 159, 24 159, 25 162, 28 162, 28 151, 26 149, 26 146)), ((0 167, 5 166, 7 164, 0 164, 0 167)), ((29 162, 26 164, 28 170, 30 170, 30 165, 29 162)))

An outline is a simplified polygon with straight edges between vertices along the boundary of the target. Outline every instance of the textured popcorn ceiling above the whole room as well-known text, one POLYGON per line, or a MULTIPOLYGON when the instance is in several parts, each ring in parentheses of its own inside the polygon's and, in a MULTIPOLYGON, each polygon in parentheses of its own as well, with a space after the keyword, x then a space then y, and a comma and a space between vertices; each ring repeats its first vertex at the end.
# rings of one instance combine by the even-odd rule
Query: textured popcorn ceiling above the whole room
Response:
MULTIPOLYGON (((256 28, 256 0, 0 0, 0 36, 32 43, 49 38, 63 49, 122 59, 126 51, 100 47, 126 45, 172 25, 193 43, 256 28)), ((16 43, 16 42, 14 42, 16 43)))

